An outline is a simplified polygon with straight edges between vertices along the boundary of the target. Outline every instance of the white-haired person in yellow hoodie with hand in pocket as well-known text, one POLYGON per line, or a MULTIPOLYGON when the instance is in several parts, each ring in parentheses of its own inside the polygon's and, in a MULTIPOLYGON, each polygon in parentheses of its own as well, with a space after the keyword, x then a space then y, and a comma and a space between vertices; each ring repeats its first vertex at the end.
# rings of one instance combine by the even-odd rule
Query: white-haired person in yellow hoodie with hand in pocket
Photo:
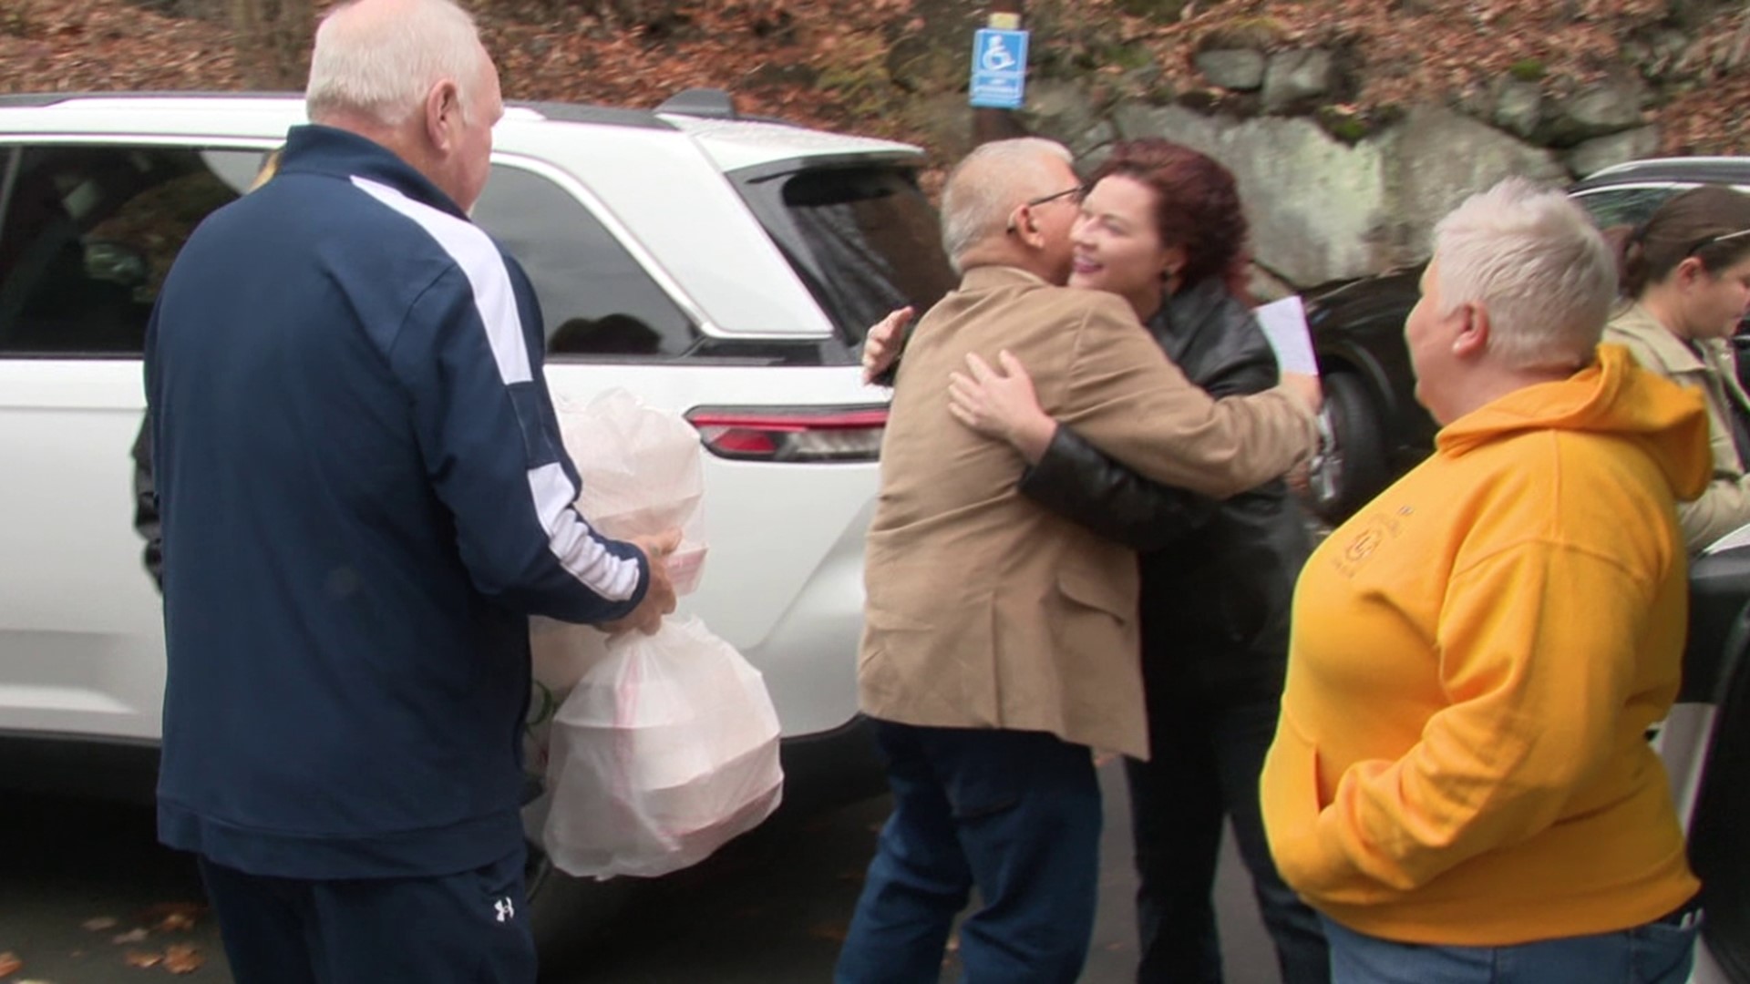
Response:
POLYGON ((1421 291, 1442 431, 1300 576, 1270 851, 1337 984, 1682 982, 1699 884, 1645 734, 1678 688, 1701 397, 1598 345, 1614 263, 1556 191, 1466 200, 1421 291))

